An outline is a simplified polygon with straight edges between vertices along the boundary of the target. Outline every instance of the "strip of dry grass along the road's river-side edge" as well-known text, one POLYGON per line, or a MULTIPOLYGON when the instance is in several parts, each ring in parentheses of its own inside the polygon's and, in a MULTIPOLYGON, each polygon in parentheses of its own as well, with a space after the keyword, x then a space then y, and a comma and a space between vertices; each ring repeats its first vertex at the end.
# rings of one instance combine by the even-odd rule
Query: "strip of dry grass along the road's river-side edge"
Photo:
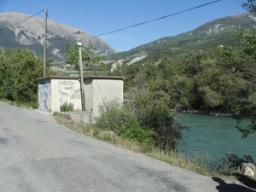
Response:
POLYGON ((127 141, 124 138, 113 134, 112 131, 100 130, 95 125, 82 125, 74 122, 71 119, 58 115, 58 113, 54 113, 54 117, 60 124, 66 125, 68 128, 73 129, 74 131, 79 131, 84 135, 95 137, 98 140, 111 143, 115 146, 130 149, 134 152, 150 156, 154 159, 169 163, 172 166, 179 166, 183 169, 191 172, 197 172, 205 176, 235 178, 234 176, 227 176, 224 174, 224 172, 227 172, 228 170, 221 170, 220 172, 218 170, 217 163, 216 165, 211 165, 212 162, 206 152, 195 154, 191 157, 176 151, 165 154, 162 153, 159 148, 147 148, 140 143, 127 141))

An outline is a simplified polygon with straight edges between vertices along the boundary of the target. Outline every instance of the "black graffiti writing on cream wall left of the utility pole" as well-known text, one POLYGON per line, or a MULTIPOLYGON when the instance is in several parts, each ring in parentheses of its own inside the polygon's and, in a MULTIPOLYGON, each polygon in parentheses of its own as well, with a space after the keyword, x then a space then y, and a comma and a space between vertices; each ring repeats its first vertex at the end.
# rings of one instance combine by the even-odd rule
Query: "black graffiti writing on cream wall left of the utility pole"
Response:
POLYGON ((81 100, 80 84, 76 81, 63 80, 58 82, 60 102, 76 102, 81 100))

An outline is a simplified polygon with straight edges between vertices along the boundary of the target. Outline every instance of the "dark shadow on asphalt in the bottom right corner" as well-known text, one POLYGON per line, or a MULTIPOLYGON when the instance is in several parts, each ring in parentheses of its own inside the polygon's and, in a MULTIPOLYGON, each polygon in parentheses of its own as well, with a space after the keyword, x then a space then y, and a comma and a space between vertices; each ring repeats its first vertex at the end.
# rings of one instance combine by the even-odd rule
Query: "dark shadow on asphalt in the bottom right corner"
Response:
MULTIPOLYGON (((255 186, 253 187, 253 189, 249 189, 245 186, 242 186, 240 184, 236 184, 236 183, 225 183, 223 179, 218 178, 218 177, 212 177, 212 180, 219 183, 219 185, 216 187, 216 189, 218 189, 219 192, 255 192, 255 186)), ((250 186, 248 186, 250 187, 250 186)))

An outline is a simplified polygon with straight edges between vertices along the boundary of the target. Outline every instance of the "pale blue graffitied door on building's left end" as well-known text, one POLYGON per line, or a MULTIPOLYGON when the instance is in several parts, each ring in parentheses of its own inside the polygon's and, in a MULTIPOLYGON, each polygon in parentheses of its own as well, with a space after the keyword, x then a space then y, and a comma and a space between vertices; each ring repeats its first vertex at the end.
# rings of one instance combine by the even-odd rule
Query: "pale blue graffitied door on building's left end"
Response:
POLYGON ((41 81, 38 84, 39 90, 39 109, 49 111, 50 85, 49 81, 41 81))

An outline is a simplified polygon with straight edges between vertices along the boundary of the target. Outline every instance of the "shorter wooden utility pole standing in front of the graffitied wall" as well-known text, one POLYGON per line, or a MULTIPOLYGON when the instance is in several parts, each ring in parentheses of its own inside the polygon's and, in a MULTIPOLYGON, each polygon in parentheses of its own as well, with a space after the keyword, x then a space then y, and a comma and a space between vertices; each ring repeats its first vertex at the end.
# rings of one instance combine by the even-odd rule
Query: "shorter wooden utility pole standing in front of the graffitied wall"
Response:
MULTIPOLYGON (((77 32, 79 35, 81 32, 77 32)), ((85 96, 84 96, 84 69, 83 69, 83 61, 82 61, 82 43, 77 42, 79 45, 79 65, 80 65, 80 87, 81 87, 81 100, 82 100, 82 111, 85 111, 85 96)))

